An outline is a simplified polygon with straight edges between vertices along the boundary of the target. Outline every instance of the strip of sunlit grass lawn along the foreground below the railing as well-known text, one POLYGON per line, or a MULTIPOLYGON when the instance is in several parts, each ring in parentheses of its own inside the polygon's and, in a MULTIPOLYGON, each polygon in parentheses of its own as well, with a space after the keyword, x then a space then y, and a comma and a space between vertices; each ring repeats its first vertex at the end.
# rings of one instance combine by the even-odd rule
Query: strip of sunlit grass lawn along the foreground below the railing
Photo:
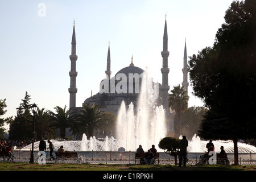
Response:
POLYGON ((0 171, 256 171, 256 166, 122 165, 122 164, 38 164, 1 162, 0 171))

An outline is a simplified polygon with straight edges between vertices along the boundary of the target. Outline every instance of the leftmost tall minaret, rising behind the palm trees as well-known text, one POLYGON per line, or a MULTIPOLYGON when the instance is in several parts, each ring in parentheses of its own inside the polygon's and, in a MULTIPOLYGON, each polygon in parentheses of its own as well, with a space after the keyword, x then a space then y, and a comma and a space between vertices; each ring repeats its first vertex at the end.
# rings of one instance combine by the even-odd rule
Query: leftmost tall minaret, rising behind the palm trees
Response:
POLYGON ((76 32, 75 32, 75 20, 74 20, 74 27, 73 27, 73 35, 72 35, 72 41, 71 41, 71 55, 69 56, 69 59, 71 60, 71 71, 69 72, 70 76, 70 88, 68 89, 68 92, 70 93, 69 96, 69 109, 75 111, 76 108, 76 32))

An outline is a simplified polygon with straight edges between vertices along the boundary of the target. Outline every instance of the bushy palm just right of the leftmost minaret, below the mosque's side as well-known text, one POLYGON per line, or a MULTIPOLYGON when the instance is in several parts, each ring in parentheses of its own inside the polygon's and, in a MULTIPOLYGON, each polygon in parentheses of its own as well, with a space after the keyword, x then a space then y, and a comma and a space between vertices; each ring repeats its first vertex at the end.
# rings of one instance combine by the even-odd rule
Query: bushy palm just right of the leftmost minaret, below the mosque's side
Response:
POLYGON ((104 129, 108 125, 108 115, 105 111, 100 111, 101 106, 93 104, 92 107, 83 104, 77 120, 80 122, 81 132, 85 133, 88 138, 93 137, 96 127, 104 129))

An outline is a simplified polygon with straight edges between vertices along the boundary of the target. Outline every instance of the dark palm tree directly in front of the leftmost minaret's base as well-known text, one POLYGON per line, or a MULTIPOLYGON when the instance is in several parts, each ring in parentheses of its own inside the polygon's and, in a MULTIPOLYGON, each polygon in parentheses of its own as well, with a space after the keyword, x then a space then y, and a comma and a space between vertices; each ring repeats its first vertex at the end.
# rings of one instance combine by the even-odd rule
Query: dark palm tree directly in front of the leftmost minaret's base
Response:
POLYGON ((60 106, 56 106, 54 109, 56 114, 49 111, 51 126, 55 127, 55 129, 60 129, 60 138, 64 139, 66 134, 65 130, 71 126, 75 115, 71 112, 71 109, 67 109, 67 106, 65 106, 64 109, 60 106))

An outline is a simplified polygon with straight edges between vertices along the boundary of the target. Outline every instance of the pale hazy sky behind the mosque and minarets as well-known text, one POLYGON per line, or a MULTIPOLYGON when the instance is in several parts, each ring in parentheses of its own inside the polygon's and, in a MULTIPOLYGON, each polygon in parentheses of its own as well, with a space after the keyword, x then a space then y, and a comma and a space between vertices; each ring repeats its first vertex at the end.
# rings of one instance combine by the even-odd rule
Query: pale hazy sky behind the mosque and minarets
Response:
MULTIPOLYGON (((6 98, 7 113, 15 116, 25 92, 36 103, 69 106, 71 39, 75 19, 77 41, 76 106, 82 106, 92 90, 100 90, 105 78, 110 42, 112 76, 129 66, 151 71, 162 83, 164 21, 167 15, 169 85, 183 82, 185 38, 187 54, 213 46, 233 0, 109 0, 109 1, 2 1, 0 7, 0 99, 6 98)), ((203 106, 192 95, 189 106, 203 106)))

